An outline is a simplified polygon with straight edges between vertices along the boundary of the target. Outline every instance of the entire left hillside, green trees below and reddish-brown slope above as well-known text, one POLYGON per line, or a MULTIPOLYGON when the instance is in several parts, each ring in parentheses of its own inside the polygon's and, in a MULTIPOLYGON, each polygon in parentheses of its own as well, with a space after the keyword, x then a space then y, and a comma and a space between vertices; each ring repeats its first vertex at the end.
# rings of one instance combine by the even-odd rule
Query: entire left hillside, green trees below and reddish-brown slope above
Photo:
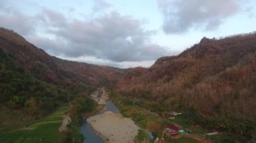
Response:
POLYGON ((0 28, 0 132, 15 117, 42 118, 77 93, 107 86, 124 70, 50 56, 17 33, 0 28), (1 115, 2 116, 2 115, 1 115))

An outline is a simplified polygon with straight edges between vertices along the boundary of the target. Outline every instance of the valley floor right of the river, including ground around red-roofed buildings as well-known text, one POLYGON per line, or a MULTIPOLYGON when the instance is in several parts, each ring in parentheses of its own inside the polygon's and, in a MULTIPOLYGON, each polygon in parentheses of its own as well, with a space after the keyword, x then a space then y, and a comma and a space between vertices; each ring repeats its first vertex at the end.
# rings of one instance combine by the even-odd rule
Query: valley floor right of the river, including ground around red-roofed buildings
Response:
MULTIPOLYGON (((132 101, 120 97, 118 95, 111 95, 110 99, 114 101, 115 105, 119 107, 121 113, 125 117, 131 117, 133 122, 137 124, 144 131, 150 131, 154 134, 154 139, 164 138, 164 140, 159 140, 159 142, 243 142, 241 138, 236 138, 236 136, 230 136, 227 134, 220 134, 214 136, 205 136, 210 130, 202 128, 199 125, 189 124, 189 119, 183 115, 179 115, 175 120, 166 120, 160 115, 133 105, 132 101), (179 124, 184 128, 188 128, 193 131, 193 134, 186 134, 180 138, 170 138, 168 134, 164 133, 166 126, 171 124, 179 124)), ((146 134, 147 136, 148 134, 146 134)), ((141 142, 146 139, 146 136, 141 137, 141 142)))

